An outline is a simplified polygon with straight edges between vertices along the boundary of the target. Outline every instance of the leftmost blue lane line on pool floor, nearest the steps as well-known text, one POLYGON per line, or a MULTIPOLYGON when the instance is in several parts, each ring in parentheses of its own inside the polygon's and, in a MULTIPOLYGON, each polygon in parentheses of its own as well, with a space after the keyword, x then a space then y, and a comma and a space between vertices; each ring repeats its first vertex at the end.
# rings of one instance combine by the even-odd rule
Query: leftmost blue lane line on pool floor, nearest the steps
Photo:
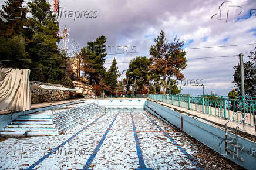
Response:
MULTIPOLYGON (((105 115, 105 114, 103 114, 105 115)), ((103 115, 101 115, 100 117, 96 118, 96 120, 94 120, 92 123, 90 123, 89 125, 87 125, 85 128, 82 128, 82 130, 80 130, 79 132, 76 132, 72 137, 70 137, 68 140, 66 140, 65 142, 63 142, 62 144, 60 144, 58 147, 56 147, 55 149, 52 149, 48 154, 46 154, 45 156, 43 156, 41 159, 39 159, 38 161, 36 161, 34 164, 32 164, 31 166, 29 166, 27 169, 33 169, 35 168, 36 165, 40 164, 41 162, 43 162, 46 158, 48 158, 50 155, 52 155, 54 152, 58 151, 58 149, 60 147, 63 147, 63 145, 65 145, 66 143, 68 143, 70 140, 72 140, 73 138, 76 137, 76 135, 80 134, 80 132, 86 130, 86 128, 88 128, 90 125, 92 125, 93 123, 95 123, 97 120, 99 120, 101 117, 103 117, 103 115)))

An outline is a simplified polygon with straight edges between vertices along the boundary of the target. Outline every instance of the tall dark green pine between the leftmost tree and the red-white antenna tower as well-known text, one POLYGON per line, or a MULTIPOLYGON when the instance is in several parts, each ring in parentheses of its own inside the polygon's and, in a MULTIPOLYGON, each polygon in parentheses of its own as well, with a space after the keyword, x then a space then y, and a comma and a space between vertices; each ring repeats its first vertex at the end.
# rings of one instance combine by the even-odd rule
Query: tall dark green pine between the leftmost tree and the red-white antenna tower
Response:
POLYGON ((29 18, 24 29, 26 49, 33 60, 31 64, 31 80, 48 83, 61 83, 65 74, 65 59, 60 52, 57 42, 61 40, 56 32, 59 31, 56 16, 50 11, 46 0, 28 3, 34 15, 29 18))

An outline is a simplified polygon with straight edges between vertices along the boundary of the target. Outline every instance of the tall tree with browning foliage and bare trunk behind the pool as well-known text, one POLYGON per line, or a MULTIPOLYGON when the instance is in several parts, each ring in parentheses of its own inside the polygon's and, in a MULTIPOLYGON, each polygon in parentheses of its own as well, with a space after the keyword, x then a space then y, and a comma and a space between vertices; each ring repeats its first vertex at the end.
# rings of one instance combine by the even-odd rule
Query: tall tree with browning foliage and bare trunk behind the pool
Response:
POLYGON ((181 70, 187 66, 186 52, 181 49, 184 42, 180 41, 177 36, 173 42, 169 42, 166 40, 163 30, 154 39, 154 42, 155 44, 150 48, 152 64, 149 68, 161 76, 163 94, 165 94, 166 81, 170 80, 172 76, 176 76, 178 80, 184 79, 184 75, 181 73, 181 70))

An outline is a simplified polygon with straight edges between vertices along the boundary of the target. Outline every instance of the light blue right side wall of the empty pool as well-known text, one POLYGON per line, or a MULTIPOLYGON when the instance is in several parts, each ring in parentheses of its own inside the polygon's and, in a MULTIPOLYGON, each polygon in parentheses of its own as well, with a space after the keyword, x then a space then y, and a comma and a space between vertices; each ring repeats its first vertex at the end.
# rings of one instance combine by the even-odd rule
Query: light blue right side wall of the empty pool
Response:
MULTIPOLYGON (((169 121, 171 124, 181 129, 181 116, 183 117, 183 131, 198 141, 206 144, 208 147, 219 152, 224 157, 243 166, 247 169, 256 169, 256 143, 245 138, 238 137, 238 145, 241 146, 238 155, 244 161, 240 161, 234 154, 226 154, 225 152, 225 131, 215 127, 204 120, 184 115, 168 107, 161 106, 153 101, 146 100, 145 109, 151 114, 156 115, 162 120, 169 121)), ((233 137, 235 135, 230 134, 233 137)), ((229 147, 234 149, 233 147, 229 147)), ((213 155, 214 157, 214 155, 213 155)))

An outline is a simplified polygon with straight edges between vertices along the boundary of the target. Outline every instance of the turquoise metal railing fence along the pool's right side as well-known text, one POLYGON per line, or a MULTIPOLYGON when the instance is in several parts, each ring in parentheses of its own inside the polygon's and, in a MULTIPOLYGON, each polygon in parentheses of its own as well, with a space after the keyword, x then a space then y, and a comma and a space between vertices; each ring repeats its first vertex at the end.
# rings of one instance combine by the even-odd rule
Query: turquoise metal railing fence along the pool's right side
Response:
MULTIPOLYGON (((188 97, 168 94, 149 94, 149 98, 225 119, 231 118, 237 111, 241 111, 241 113, 252 113, 253 115, 251 114, 245 118, 245 124, 254 125, 253 116, 256 114, 256 100, 188 97)), ((245 114, 237 114, 233 120, 241 121, 243 118, 242 115, 245 114)))

